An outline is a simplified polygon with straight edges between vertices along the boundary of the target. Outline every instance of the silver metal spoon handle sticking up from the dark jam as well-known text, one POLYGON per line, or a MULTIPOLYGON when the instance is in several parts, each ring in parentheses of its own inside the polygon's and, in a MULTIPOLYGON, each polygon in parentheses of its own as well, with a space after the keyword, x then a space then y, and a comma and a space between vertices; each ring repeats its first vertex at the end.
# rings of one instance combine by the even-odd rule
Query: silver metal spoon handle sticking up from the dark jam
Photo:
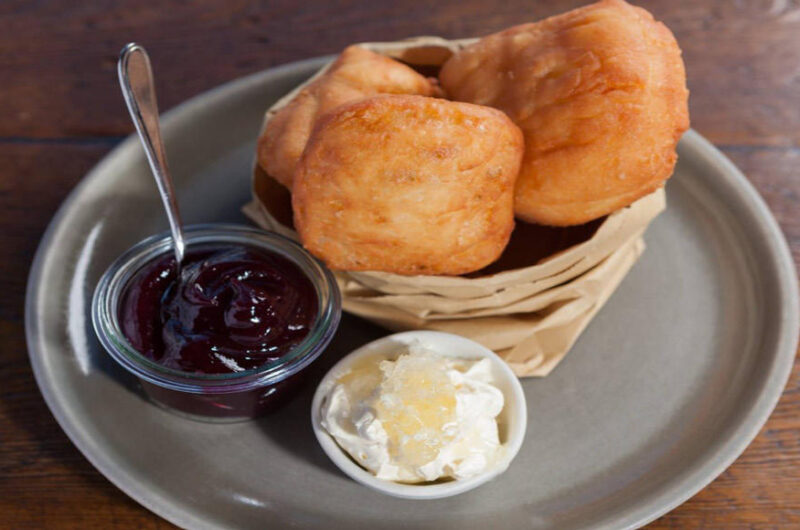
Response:
POLYGON ((169 176, 167 155, 161 141, 153 70, 150 68, 150 58, 145 49, 134 42, 127 44, 120 53, 117 73, 128 112, 130 112, 136 131, 139 133, 147 161, 150 163, 150 169, 152 169, 158 185, 158 192, 164 202, 164 209, 167 211, 175 259, 180 268, 185 249, 181 215, 172 179, 169 176))

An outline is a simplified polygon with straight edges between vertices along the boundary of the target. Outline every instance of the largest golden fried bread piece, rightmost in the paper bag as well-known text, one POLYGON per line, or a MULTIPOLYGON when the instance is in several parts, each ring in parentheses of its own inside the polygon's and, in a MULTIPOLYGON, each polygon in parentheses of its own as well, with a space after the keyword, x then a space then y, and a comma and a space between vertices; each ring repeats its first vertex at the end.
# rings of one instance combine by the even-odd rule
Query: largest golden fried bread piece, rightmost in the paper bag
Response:
POLYGON ((525 135, 515 210, 574 225, 656 190, 689 126, 681 51, 644 9, 604 0, 484 37, 439 79, 506 112, 525 135))

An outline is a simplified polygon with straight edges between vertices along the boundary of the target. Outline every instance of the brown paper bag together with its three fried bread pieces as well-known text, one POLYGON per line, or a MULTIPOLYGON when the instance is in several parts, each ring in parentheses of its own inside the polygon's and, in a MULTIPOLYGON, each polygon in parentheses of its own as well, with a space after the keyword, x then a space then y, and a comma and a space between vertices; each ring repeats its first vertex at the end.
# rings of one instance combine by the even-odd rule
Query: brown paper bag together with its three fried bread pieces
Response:
POLYGON ((245 212, 333 269, 346 311, 544 376, 644 250, 687 98, 674 37, 622 0, 350 46, 266 111, 245 212))

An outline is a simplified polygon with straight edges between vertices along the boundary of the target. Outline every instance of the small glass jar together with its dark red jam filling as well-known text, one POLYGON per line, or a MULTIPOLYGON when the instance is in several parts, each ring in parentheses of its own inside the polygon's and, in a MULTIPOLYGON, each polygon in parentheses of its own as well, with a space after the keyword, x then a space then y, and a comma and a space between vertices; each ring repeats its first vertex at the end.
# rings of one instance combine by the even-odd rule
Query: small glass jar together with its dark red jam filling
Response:
POLYGON ((333 338, 336 281, 277 234, 215 224, 189 227, 185 237, 182 283, 168 234, 112 263, 92 301, 97 336, 150 399, 173 412, 214 422, 268 412, 333 338))

